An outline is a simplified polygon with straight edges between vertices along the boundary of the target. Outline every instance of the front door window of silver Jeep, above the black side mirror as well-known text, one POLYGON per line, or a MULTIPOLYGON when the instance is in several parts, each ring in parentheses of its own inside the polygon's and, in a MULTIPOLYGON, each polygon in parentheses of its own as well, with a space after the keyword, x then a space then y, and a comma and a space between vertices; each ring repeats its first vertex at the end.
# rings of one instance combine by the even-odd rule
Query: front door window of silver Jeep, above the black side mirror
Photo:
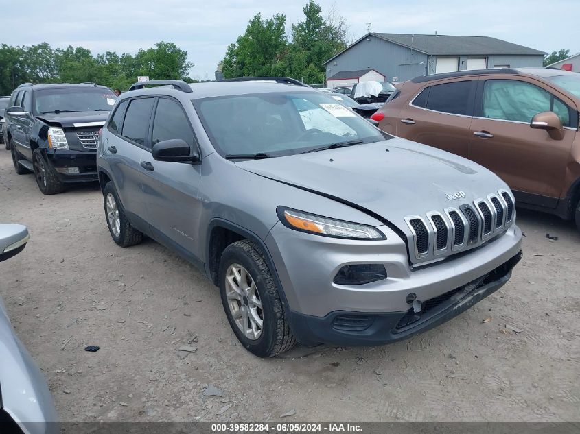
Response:
POLYGON ((153 121, 152 144, 181 138, 190 148, 194 146, 194 132, 183 108, 172 99, 160 98, 153 121))

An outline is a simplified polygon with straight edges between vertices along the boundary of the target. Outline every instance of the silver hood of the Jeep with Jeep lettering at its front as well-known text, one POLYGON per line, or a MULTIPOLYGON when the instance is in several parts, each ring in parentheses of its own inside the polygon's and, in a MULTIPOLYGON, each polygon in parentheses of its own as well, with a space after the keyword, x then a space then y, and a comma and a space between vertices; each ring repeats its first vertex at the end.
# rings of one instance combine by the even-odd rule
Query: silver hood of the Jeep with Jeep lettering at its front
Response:
POLYGON ((508 189, 485 167, 403 138, 236 164, 366 208, 405 234, 410 233, 406 216, 473 205, 480 197, 508 189))

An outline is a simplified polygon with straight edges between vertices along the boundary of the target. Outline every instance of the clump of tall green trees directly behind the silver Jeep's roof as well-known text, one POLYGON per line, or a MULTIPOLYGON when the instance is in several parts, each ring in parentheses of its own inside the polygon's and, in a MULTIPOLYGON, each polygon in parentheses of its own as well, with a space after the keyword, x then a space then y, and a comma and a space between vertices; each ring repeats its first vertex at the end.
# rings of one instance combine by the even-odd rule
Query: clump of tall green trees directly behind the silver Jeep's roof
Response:
POLYGON ((286 16, 262 19, 255 15, 246 32, 229 45, 222 61, 224 77, 281 75, 323 83, 323 62, 347 47, 347 26, 332 13, 323 18, 314 0, 308 1, 303 12, 304 20, 292 24, 290 43, 284 30, 286 16))

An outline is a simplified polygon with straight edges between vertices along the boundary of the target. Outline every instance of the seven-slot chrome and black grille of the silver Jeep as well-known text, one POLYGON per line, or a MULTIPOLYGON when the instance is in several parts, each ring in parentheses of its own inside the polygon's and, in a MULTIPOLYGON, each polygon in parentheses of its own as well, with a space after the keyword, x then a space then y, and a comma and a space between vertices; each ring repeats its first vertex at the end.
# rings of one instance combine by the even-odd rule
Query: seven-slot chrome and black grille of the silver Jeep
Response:
POLYGON ((511 193, 500 190, 472 204, 445 208, 444 213, 433 210, 405 217, 411 232, 410 250, 415 254, 413 262, 430 261, 485 243, 511 226, 514 206, 511 193))

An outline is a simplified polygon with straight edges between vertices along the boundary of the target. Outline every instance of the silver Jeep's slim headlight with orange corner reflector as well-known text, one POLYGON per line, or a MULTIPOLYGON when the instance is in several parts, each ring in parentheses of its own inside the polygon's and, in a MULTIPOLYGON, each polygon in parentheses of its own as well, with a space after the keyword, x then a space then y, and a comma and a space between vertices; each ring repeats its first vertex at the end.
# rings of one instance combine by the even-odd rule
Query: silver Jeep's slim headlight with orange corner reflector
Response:
POLYGON ((373 226, 351 223, 350 221, 329 219, 321 215, 303 213, 279 206, 277 213, 287 228, 308 232, 309 234, 347 239, 385 239, 380 230, 373 226))

